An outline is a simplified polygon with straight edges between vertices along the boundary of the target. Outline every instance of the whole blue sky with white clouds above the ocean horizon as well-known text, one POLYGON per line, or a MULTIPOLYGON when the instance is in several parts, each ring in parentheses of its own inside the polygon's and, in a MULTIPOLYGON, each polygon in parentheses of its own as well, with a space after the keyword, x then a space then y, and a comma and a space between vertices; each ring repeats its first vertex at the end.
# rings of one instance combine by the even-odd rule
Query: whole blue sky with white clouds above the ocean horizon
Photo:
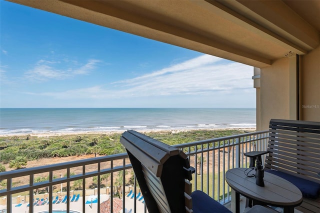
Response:
POLYGON ((255 107, 253 67, 0 0, 0 107, 255 107))

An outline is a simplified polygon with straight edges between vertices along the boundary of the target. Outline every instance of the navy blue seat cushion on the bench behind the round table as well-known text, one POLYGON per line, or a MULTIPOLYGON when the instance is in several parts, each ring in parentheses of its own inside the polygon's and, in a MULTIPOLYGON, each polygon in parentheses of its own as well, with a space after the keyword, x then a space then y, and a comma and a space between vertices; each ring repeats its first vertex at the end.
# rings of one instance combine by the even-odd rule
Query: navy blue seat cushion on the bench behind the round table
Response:
POLYGON ((300 191, 302 192, 302 196, 304 197, 315 199, 319 196, 320 183, 316 183, 311 180, 303 179, 303 178, 293 176, 291 174, 287 174, 282 171, 277 171, 273 169, 267 169, 265 171, 275 174, 293 183, 296 187, 300 189, 300 191))

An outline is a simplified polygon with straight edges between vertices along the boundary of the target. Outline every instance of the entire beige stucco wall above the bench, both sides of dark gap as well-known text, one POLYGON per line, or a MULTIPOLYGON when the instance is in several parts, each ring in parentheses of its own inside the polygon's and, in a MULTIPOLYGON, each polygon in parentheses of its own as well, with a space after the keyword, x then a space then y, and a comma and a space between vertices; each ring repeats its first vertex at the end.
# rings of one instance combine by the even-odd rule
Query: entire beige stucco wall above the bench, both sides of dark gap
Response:
POLYGON ((296 100, 292 60, 295 58, 283 57, 260 69, 260 86, 256 86, 257 130, 268 129, 271 118, 320 121, 320 47, 299 57, 300 88, 296 100), (299 118, 294 117, 296 108, 299 118))

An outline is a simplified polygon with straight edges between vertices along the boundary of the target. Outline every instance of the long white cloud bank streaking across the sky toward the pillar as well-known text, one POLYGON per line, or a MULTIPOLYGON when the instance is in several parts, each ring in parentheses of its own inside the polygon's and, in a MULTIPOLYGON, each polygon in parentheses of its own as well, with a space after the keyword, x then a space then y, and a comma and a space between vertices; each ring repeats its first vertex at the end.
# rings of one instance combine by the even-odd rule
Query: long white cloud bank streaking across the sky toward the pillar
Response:
MULTIPOLYGON (((91 62, 94 63, 94 61, 91 62)), ((63 92, 46 92, 41 95, 62 99, 105 100, 132 96, 214 95, 217 93, 226 95, 239 93, 239 90, 241 92, 252 90, 252 71, 253 68, 248 65, 211 55, 202 55, 149 74, 116 81, 111 85, 98 85, 63 92)))

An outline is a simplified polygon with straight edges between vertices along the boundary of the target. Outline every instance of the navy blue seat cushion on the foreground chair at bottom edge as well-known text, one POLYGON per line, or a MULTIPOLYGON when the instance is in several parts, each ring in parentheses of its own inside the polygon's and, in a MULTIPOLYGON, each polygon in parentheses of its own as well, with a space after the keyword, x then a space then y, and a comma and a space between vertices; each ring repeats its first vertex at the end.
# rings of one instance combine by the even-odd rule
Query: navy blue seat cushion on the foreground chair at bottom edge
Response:
POLYGON ((232 213, 229 209, 212 199, 203 191, 195 190, 191 193, 192 210, 194 213, 232 213))

